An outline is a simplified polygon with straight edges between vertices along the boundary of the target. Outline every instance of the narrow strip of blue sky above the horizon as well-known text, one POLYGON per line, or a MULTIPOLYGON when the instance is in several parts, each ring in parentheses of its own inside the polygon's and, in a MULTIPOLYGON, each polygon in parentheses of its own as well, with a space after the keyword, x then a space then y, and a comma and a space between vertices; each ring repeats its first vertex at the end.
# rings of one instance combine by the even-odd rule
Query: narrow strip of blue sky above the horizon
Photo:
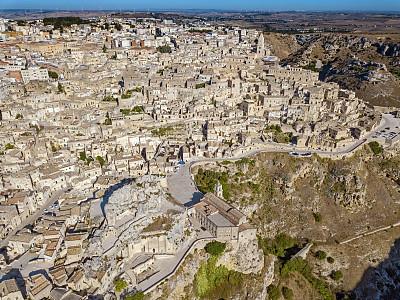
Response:
POLYGON ((400 11, 400 0, 0 0, 0 9, 229 9, 400 11))

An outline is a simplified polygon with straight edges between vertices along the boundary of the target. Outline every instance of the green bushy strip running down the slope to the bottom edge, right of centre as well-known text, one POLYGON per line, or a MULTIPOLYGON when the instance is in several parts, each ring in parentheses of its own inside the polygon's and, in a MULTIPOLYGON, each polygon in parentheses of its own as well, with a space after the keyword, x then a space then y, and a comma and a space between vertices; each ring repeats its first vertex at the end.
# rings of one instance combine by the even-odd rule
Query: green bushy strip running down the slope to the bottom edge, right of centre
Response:
POLYGON ((300 273, 320 294, 325 300, 334 299, 329 286, 322 280, 314 277, 312 267, 308 262, 301 257, 288 260, 281 268, 281 277, 287 278, 290 272, 300 273))

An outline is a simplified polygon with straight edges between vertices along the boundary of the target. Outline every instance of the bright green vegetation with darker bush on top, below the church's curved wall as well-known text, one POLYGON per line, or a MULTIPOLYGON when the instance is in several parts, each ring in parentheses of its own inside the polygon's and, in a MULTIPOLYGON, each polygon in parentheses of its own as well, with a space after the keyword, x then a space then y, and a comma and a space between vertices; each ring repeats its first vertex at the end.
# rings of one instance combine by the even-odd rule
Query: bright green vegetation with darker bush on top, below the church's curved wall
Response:
MULTIPOLYGON (((216 266, 218 258, 223 250, 219 244, 215 242, 209 243, 206 246, 206 251, 210 254, 207 262, 203 262, 198 270, 195 279, 195 292, 198 297, 210 296, 213 293, 223 294, 225 297, 234 286, 238 286, 242 281, 242 274, 236 271, 228 270, 225 266, 216 266), (212 246, 210 245, 212 244, 212 246)), ((218 243, 218 242, 216 242, 218 243)), ((215 298, 215 297, 214 297, 215 298)), ((216 297, 218 299, 218 297, 216 297)))

